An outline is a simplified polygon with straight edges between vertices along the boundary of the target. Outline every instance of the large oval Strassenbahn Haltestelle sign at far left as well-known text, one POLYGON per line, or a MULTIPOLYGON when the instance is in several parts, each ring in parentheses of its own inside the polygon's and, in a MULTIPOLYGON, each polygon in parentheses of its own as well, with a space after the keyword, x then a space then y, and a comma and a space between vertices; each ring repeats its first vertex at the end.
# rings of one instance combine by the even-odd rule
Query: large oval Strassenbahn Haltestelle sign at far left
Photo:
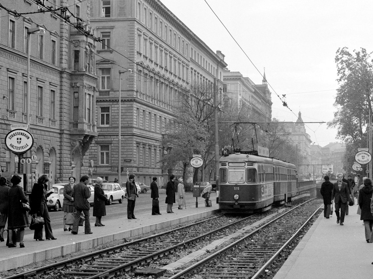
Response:
POLYGON ((13 153, 23 154, 31 149, 34 144, 34 137, 23 129, 10 131, 5 137, 5 145, 13 153))

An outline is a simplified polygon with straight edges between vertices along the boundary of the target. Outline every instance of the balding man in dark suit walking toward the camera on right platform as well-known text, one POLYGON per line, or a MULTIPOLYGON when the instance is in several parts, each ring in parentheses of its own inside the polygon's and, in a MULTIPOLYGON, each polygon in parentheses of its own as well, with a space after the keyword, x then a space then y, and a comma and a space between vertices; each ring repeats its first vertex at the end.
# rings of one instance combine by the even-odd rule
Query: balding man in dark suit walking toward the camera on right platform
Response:
POLYGON ((348 203, 350 202, 350 191, 348 184, 343 182, 343 174, 338 173, 338 181, 333 184, 332 200, 335 203, 335 215, 337 216, 337 224, 343 226, 345 221, 345 212, 348 203), (341 209, 341 216, 339 216, 339 209, 341 209))

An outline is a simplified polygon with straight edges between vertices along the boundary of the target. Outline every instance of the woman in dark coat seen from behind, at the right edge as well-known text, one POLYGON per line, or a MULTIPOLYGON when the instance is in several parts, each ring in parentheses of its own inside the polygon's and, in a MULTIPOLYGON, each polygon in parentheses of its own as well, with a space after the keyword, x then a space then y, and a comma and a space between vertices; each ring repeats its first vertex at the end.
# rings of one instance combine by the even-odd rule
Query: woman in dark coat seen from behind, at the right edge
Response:
POLYGON ((360 220, 364 221, 365 240, 367 242, 369 242, 370 240, 370 235, 372 234, 373 226, 373 214, 370 212, 372 194, 372 181, 369 178, 367 178, 364 180, 364 187, 359 191, 359 207, 361 209, 360 220))

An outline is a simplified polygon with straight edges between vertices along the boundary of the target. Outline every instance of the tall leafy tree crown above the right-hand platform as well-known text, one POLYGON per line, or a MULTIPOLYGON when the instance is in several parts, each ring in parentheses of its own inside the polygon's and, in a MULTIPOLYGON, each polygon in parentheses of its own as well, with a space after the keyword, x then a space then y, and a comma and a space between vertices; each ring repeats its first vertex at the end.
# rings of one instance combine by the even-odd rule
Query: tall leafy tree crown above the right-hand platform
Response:
POLYGON ((367 133, 369 111, 372 112, 373 64, 364 48, 354 50, 339 48, 336 52, 338 84, 334 106, 334 119, 329 127, 338 129, 337 137, 346 142, 356 142, 367 133))

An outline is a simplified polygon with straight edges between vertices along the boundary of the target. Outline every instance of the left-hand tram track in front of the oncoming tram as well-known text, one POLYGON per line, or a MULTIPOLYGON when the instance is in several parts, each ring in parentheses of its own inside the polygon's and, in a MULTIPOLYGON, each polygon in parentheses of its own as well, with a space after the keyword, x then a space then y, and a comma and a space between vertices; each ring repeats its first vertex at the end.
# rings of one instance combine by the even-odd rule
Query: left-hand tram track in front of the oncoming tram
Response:
MULTIPOLYGON (((189 251, 198 250, 201 247, 201 239, 203 239, 203 245, 204 243, 213 242, 216 238, 231 235, 248 225, 252 225, 256 221, 260 222, 263 216, 266 216, 266 214, 244 218, 216 216, 167 232, 96 251, 82 257, 71 258, 50 266, 5 278, 94 279, 115 278, 122 273, 131 274, 130 276, 133 276, 136 267, 141 269, 144 266, 149 266, 155 259, 162 258, 165 255, 175 260, 175 257, 170 257, 168 255, 174 251, 185 250, 186 248, 188 248, 189 251)), ((256 247, 255 249, 258 251, 256 253, 260 254, 259 251, 261 249, 268 249, 268 247, 256 247)), ((166 260, 164 262, 167 263, 172 260, 166 260)), ((162 264, 158 268, 162 269, 162 264)), ((198 267, 195 268, 197 269, 198 267)), ((148 276, 146 277, 148 278, 148 276)))

